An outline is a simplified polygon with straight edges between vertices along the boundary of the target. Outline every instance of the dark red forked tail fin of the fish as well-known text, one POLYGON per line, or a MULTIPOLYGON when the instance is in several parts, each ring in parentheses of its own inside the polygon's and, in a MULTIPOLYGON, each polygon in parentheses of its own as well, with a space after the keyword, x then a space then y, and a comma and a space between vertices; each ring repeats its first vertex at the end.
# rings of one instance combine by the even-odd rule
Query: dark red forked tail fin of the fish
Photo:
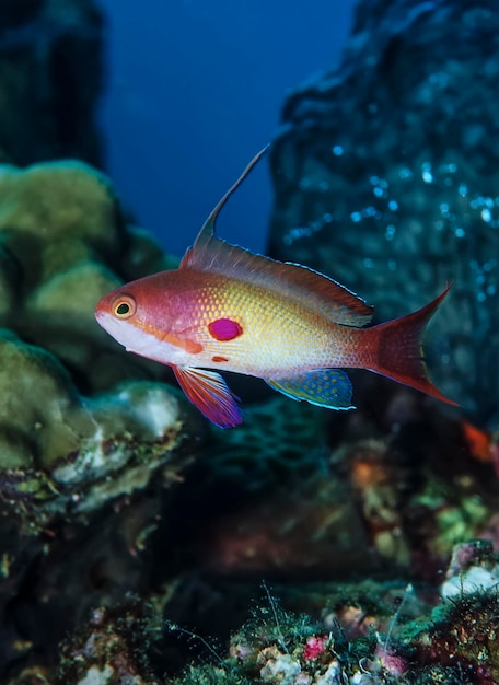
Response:
POLYGON ((449 283, 442 294, 417 312, 367 328, 365 333, 373 338, 368 367, 371 371, 455 405, 457 403, 442 395, 430 381, 421 346, 425 327, 451 287, 449 283))

